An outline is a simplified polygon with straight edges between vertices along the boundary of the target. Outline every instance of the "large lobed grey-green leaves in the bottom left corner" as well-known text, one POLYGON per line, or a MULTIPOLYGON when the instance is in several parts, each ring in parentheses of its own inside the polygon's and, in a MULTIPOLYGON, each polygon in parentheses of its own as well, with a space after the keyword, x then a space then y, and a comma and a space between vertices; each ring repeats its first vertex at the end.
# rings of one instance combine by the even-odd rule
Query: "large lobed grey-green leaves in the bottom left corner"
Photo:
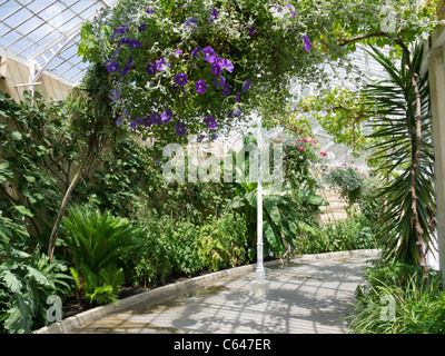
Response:
POLYGON ((50 263, 38 249, 29 255, 8 248, 0 258, 0 333, 30 333, 47 325, 47 298, 62 298, 70 290, 65 261, 50 263))

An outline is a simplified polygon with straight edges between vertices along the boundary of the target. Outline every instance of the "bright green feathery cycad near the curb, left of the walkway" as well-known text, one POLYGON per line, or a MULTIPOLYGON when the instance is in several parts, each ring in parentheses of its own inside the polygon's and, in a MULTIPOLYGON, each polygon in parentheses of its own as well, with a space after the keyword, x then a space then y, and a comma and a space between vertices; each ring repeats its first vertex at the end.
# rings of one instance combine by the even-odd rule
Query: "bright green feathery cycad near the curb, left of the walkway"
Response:
POLYGON ((126 218, 89 206, 69 209, 63 226, 76 265, 71 274, 79 299, 85 297, 89 304, 115 300, 123 283, 118 260, 139 247, 140 228, 126 218))

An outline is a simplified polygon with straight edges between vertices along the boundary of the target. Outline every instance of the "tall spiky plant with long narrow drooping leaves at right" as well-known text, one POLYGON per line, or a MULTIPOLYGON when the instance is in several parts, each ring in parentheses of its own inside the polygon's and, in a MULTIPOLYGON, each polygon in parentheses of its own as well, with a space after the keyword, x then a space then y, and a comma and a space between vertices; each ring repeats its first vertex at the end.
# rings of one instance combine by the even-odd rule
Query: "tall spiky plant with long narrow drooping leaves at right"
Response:
POLYGON ((399 66, 369 51, 388 75, 366 88, 375 102, 374 164, 387 181, 378 195, 386 201, 380 236, 384 257, 421 265, 427 279, 424 245, 433 238, 436 214, 428 81, 419 75, 422 49, 403 49, 399 66))

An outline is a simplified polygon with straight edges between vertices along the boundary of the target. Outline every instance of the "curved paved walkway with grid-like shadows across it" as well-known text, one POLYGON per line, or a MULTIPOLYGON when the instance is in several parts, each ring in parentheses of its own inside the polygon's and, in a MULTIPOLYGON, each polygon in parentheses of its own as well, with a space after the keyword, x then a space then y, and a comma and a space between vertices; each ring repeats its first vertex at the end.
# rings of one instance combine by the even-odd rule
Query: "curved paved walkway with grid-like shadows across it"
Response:
POLYGON ((249 293, 255 273, 225 277, 192 295, 137 305, 72 329, 75 334, 339 334, 347 333, 362 268, 373 257, 296 259, 266 267, 267 296, 249 293))

